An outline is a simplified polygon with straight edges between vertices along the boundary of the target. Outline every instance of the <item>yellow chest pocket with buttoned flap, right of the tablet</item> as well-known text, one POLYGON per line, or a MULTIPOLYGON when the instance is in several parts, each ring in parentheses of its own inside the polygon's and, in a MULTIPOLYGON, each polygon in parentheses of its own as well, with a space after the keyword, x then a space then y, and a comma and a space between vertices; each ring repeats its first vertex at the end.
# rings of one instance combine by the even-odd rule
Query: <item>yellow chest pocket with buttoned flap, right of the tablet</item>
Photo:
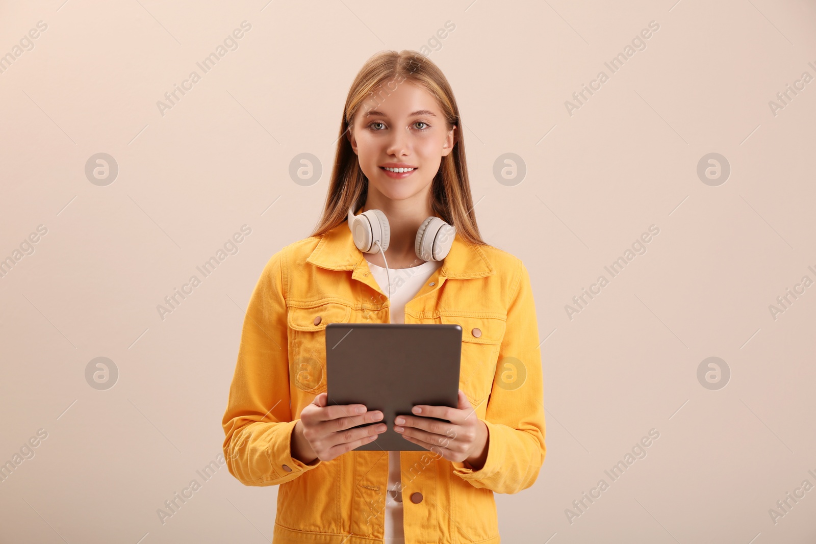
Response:
POLYGON ((493 387, 499 346, 505 322, 494 317, 440 316, 445 325, 462 327, 462 365, 459 388, 468 396, 477 414, 485 414, 487 397, 493 387))

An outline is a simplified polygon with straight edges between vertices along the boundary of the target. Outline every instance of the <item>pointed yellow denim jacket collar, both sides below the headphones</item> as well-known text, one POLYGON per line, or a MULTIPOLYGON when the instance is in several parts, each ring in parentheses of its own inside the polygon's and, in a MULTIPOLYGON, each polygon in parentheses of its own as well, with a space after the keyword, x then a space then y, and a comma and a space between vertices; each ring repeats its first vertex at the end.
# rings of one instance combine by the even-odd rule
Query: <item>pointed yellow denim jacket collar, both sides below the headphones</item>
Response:
MULTIPOLYGON (((348 230, 346 221, 321 237, 306 262, 328 270, 355 270, 362 266, 368 267, 361 250, 354 245, 352 232, 348 230)), ((450 252, 442 260, 440 275, 467 279, 490 276, 494 273, 495 270, 481 247, 463 240, 457 232, 453 244, 450 245, 450 252)))

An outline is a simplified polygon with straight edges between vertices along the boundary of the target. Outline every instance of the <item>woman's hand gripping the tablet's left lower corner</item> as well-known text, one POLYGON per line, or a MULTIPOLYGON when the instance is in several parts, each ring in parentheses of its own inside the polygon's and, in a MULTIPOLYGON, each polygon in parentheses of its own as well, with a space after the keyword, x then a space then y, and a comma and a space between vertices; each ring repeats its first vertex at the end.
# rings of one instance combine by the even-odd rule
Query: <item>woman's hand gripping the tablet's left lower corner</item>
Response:
MULTIPOLYGON (((295 427, 301 426, 300 432, 295 428, 295 436, 304 439, 304 443, 299 444, 303 446, 299 453, 304 458, 330 461, 357 446, 368 444, 386 430, 385 423, 353 429, 363 423, 381 420, 383 413, 379 410, 368 412, 365 405, 326 406, 328 396, 326 391, 316 396, 312 404, 301 411, 300 420, 295 424, 295 427)), ((293 449, 296 447, 293 444, 293 449)), ((295 455, 294 451, 292 453, 295 455)))

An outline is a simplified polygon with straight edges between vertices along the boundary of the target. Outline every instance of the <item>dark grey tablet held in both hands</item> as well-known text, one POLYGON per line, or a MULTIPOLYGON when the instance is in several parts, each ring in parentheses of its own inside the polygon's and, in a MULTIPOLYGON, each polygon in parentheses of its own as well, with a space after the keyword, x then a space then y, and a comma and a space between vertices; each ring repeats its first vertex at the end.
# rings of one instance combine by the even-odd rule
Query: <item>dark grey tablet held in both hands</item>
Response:
POLYGON ((379 422, 358 427, 384 422, 387 430, 357 450, 425 451, 394 431, 394 418, 414 415, 415 405, 456 408, 461 356, 459 325, 330 323, 327 405, 361 404, 383 413, 379 422))

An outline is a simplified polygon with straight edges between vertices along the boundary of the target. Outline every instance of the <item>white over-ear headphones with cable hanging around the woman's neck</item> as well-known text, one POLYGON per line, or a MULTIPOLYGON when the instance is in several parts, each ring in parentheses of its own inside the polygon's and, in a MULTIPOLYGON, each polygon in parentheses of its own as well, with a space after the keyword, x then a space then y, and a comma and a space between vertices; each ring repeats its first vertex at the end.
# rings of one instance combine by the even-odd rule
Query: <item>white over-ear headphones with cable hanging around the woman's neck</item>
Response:
MULTIPOLYGON (((353 207, 348 208, 348 228, 352 232, 354 245, 363 253, 382 253, 391 237, 388 218, 381 210, 366 210, 354 215, 353 207)), ((445 259, 450 246, 454 243, 456 228, 435 215, 425 219, 416 232, 414 250, 416 256, 424 261, 441 261, 445 259)), ((385 261, 385 272, 388 276, 388 261, 385 261)), ((391 280, 388 277, 388 296, 391 294, 391 280)))

